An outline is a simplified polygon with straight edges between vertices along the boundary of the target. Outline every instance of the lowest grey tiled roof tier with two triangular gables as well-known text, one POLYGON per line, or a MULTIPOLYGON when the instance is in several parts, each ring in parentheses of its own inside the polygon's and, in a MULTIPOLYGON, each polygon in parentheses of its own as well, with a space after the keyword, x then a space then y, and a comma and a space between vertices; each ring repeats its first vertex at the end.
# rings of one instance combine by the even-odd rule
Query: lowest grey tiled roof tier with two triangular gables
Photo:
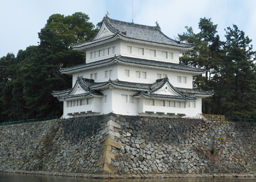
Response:
POLYGON ((144 84, 144 83, 133 83, 133 82, 126 82, 126 81, 120 81, 118 79, 116 80, 108 80, 106 82, 100 82, 95 83, 92 79, 86 79, 78 77, 76 80, 76 83, 79 83, 79 85, 87 91, 87 93, 77 94, 77 95, 70 95, 69 94, 75 89, 76 84, 72 89, 67 89, 63 91, 53 91, 52 95, 57 97, 59 100, 67 99, 67 98, 76 98, 76 97, 85 97, 89 95, 96 95, 96 96, 102 96, 103 93, 101 93, 98 89, 106 88, 108 85, 116 86, 116 87, 122 87, 126 89, 132 89, 132 90, 140 90, 139 93, 135 94, 134 96, 144 95, 146 97, 153 97, 153 98, 169 98, 169 99, 181 99, 181 100, 194 100, 196 95, 213 95, 214 91, 203 91, 203 90, 197 90, 197 89, 184 89, 184 88, 176 88, 172 84, 170 84, 168 78, 158 79, 153 84, 144 84), (169 83, 171 88, 179 94, 179 96, 174 95, 164 95, 164 94, 154 94, 153 92, 161 89, 166 83, 169 83), (147 93, 149 91, 150 93, 147 93), (63 95, 66 93, 65 95, 63 95), (189 94, 189 95, 187 95, 189 94))

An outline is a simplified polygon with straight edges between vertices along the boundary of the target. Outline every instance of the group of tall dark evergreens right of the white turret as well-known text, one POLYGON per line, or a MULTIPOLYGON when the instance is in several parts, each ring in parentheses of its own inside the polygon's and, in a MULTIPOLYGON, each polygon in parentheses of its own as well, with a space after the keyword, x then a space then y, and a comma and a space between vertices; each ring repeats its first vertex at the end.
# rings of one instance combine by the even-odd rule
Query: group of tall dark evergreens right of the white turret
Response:
POLYGON ((181 54, 180 62, 205 68, 204 75, 194 77, 194 87, 214 90, 212 97, 203 99, 203 112, 222 114, 226 117, 254 118, 255 115, 255 52, 251 39, 245 37, 236 25, 228 27, 226 41, 217 35, 217 25, 210 18, 201 18, 200 32, 192 27, 178 34, 178 39, 194 43, 194 49, 181 54))

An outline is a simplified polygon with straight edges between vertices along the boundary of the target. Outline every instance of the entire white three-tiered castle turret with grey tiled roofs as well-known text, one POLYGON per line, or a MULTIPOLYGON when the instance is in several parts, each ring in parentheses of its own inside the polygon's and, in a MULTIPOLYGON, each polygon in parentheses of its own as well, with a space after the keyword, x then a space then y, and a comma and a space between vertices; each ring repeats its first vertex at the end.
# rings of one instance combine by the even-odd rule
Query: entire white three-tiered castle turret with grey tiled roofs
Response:
POLYGON ((73 44, 86 63, 60 71, 73 76, 73 88, 54 91, 63 101, 64 118, 100 115, 196 117, 202 98, 213 91, 193 89, 193 75, 204 69, 179 63, 193 44, 170 39, 157 26, 104 17, 88 42, 73 44))

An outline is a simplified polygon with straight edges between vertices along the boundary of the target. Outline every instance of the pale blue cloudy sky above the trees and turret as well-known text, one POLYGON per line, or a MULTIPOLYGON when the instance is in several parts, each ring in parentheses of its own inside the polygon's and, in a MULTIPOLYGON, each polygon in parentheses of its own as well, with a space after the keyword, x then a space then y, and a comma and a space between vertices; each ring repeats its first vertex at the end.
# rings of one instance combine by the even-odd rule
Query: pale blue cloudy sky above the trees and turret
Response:
MULTIPOLYGON (((52 14, 72 15, 83 12, 96 25, 105 16, 132 22, 132 0, 0 0, 0 57, 8 52, 17 55, 30 45, 38 45, 38 32, 52 14)), ((185 26, 199 32, 200 18, 212 18, 218 24, 221 40, 224 28, 237 25, 253 40, 256 49, 256 0, 134 0, 133 21, 155 26, 170 38, 183 33, 185 26)))

